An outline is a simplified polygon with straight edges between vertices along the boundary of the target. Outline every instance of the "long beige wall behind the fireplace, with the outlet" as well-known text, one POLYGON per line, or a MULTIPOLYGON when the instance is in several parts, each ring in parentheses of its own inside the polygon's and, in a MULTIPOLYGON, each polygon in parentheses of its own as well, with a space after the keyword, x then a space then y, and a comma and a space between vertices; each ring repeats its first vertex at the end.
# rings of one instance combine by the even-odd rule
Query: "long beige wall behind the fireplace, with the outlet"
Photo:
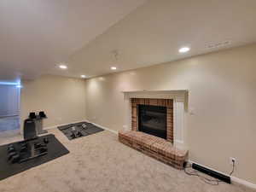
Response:
MULTIPOLYGON (((172 53, 170 53, 172 54, 172 53)), ((256 44, 114 73, 86 82, 87 119, 125 125, 122 90, 189 90, 185 140, 189 159, 256 183, 256 44)))

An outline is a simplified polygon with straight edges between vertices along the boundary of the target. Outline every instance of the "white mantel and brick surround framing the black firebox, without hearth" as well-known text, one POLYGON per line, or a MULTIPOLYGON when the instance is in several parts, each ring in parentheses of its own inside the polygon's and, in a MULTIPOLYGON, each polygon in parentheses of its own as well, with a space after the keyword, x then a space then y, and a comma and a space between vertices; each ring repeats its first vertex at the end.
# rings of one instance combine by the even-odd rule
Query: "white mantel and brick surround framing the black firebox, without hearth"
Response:
MULTIPOLYGON (((176 148, 188 148, 185 141, 188 115, 188 90, 127 90, 123 91, 125 102, 124 131, 139 131, 139 106, 159 106, 166 108, 166 142, 176 148)), ((147 133, 147 132, 146 132, 147 133)))

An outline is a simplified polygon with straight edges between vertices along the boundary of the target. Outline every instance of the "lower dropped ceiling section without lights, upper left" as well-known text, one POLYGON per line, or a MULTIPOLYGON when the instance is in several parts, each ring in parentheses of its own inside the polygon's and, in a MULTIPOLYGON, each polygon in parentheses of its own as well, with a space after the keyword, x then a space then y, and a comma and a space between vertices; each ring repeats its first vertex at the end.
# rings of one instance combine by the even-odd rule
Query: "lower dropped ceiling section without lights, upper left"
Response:
POLYGON ((0 79, 33 79, 145 0, 1 0, 0 79))

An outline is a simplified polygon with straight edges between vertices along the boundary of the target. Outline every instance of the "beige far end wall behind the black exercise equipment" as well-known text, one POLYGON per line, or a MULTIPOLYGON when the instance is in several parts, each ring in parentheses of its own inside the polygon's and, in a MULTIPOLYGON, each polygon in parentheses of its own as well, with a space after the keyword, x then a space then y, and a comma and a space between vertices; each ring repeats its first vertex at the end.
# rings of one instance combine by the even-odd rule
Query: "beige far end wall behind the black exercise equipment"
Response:
MULTIPOLYGON (((68 124, 85 117, 84 80, 44 75, 23 81, 21 89, 21 122, 31 111, 44 111, 44 127, 68 124)), ((21 125, 23 126, 23 125, 21 125)))

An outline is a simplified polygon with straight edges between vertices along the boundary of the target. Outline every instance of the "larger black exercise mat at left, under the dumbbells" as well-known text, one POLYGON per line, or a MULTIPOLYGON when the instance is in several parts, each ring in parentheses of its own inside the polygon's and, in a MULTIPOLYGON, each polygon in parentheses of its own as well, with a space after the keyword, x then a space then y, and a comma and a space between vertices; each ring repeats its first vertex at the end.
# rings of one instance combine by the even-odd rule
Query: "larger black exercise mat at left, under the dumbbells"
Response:
POLYGON ((56 158, 61 157, 62 155, 68 153, 69 151, 67 150, 67 148, 65 148, 65 146, 63 146, 52 134, 37 137, 36 139, 33 140, 1 145, 0 180, 6 177, 13 176, 19 172, 26 171, 34 166, 38 166, 46 162, 49 162, 49 160, 55 160, 56 158), (48 141, 47 154, 44 154, 46 152, 45 148, 41 148, 44 147, 44 141, 48 141), (34 154, 44 155, 24 161, 24 158, 27 158, 32 154, 31 148, 32 146, 34 146, 34 144, 36 144, 34 154), (11 152, 13 154, 8 153, 9 147, 14 147, 16 152, 11 152), (20 152, 21 148, 24 148, 24 152, 22 153, 20 152))

